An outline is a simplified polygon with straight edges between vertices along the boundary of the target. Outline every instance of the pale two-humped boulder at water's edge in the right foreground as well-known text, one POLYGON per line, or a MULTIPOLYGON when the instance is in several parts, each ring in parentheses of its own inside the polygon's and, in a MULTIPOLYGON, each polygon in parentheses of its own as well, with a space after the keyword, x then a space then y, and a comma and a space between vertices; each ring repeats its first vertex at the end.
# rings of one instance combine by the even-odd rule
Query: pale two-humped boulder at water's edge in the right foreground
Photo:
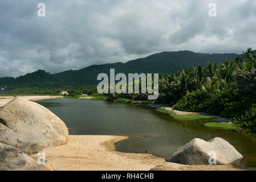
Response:
POLYGON ((202 165, 214 164, 214 159, 216 159, 215 164, 222 165, 242 158, 243 156, 222 138, 214 138, 209 142, 195 138, 185 146, 178 148, 165 160, 166 162, 186 165, 202 165))

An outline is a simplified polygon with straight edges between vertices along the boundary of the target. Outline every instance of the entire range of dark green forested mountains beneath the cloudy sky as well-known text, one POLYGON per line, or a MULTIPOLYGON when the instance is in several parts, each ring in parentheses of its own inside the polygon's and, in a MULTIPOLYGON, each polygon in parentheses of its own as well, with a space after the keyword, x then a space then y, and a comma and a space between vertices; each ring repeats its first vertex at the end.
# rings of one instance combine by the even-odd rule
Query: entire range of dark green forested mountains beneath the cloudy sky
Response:
POLYGON ((131 60, 127 63, 92 65, 80 70, 70 70, 50 74, 42 70, 27 73, 25 76, 0 78, 0 89, 7 88, 56 88, 60 86, 80 86, 96 84, 99 73, 107 73, 115 68, 116 73, 174 73, 184 68, 206 65, 208 61, 222 63, 234 59, 235 53, 195 53, 191 51, 161 52, 148 57, 131 60))

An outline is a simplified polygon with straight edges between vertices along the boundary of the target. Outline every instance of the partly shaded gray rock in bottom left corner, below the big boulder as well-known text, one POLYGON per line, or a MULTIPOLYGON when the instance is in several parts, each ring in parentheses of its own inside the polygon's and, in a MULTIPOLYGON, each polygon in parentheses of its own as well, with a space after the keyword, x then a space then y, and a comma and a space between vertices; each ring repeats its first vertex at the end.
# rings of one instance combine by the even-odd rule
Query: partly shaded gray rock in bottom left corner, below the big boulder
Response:
POLYGON ((0 171, 48 171, 13 146, 0 143, 0 171))

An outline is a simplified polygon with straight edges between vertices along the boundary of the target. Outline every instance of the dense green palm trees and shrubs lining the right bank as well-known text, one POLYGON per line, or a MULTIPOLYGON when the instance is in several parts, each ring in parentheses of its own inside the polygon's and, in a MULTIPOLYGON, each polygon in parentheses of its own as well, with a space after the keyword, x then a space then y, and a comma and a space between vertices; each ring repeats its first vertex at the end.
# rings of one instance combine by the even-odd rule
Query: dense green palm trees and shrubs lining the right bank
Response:
MULTIPOLYGON (((248 48, 243 55, 206 67, 182 69, 159 78, 159 99, 174 109, 205 112, 231 118, 247 129, 256 129, 256 55, 248 48)), ((147 100, 148 94, 109 94, 108 100, 147 100)))

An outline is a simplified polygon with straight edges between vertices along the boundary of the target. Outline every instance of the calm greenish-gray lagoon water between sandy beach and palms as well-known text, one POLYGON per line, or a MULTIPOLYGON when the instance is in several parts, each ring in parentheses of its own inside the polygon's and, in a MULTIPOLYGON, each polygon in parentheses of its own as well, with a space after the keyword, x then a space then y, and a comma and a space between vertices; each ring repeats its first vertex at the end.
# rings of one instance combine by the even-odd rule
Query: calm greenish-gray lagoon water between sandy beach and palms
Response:
POLYGON ((180 121, 143 106, 71 98, 36 101, 71 128, 71 135, 131 135, 116 144, 118 151, 169 155, 193 138, 221 137, 245 159, 243 166, 256 167, 256 135, 204 127, 200 121, 180 121))

